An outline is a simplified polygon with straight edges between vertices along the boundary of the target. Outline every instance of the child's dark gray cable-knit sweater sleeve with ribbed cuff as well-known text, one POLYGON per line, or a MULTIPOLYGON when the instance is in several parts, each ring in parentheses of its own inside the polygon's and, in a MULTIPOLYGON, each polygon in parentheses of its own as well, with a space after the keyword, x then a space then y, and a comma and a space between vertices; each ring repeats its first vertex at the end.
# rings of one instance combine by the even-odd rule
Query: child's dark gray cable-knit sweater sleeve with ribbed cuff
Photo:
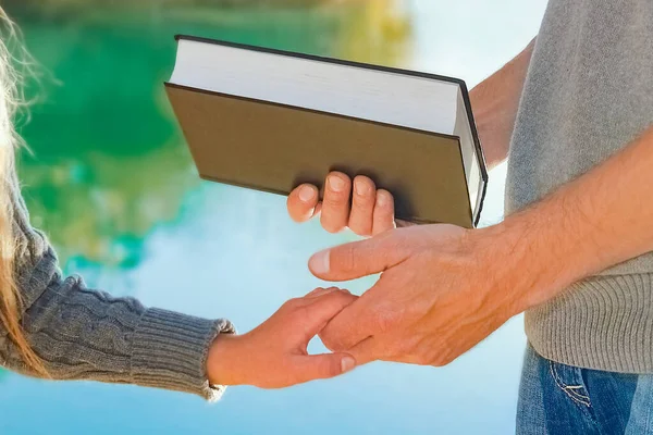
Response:
MULTIPOLYGON (((137 384, 219 398, 206 374, 209 345, 234 333, 225 320, 210 321, 113 298, 63 277, 47 238, 29 225, 14 177, 12 192, 17 282, 27 339, 56 380, 137 384)), ((33 375, 0 324, 0 363, 33 375)))

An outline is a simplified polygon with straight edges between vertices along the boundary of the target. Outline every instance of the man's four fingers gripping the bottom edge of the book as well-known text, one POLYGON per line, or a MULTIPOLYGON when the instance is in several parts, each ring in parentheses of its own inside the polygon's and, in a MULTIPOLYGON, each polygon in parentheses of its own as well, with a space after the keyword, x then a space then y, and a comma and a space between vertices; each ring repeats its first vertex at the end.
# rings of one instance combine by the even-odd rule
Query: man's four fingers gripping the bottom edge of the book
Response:
POLYGON ((359 236, 371 236, 395 227, 394 198, 362 175, 352 183, 342 172, 330 173, 322 202, 316 186, 303 184, 288 196, 287 208, 295 222, 308 221, 321 212, 320 222, 330 233, 348 226, 359 236))

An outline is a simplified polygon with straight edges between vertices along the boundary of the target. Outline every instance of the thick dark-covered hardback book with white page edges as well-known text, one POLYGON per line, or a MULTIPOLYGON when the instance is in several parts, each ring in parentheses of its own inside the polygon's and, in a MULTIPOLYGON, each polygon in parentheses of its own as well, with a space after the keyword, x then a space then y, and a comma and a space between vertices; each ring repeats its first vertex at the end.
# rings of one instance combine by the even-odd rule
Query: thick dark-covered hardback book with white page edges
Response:
POLYGON ((371 177, 397 219, 478 224, 488 172, 465 82, 177 36, 165 90, 204 179, 288 195, 371 177))

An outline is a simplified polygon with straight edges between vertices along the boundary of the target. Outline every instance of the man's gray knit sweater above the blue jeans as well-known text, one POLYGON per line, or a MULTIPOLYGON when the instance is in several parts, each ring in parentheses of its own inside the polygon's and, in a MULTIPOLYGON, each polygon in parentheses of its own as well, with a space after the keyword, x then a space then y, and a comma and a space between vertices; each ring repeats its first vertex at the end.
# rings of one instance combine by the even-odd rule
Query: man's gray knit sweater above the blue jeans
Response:
MULTIPOLYGON (((551 0, 510 146, 506 211, 587 172, 652 125, 653 1, 551 0)), ((555 361, 653 373, 653 253, 528 311, 526 332, 555 361)))

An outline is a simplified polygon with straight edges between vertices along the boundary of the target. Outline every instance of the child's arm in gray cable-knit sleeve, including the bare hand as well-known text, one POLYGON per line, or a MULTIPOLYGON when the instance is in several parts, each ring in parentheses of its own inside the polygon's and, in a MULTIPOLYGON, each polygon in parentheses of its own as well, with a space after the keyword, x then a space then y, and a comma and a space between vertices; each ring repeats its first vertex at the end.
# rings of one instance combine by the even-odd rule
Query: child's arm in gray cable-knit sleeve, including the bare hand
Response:
MULTIPOLYGON (((21 324, 50 377, 137 384, 215 399, 222 390, 219 382, 281 386, 336 374, 326 365, 337 364, 343 355, 309 358, 303 346, 354 296, 332 291, 296 299, 251 333, 223 340, 235 332, 226 320, 146 308, 134 298, 90 290, 79 277, 62 277, 47 238, 29 225, 17 186, 14 181, 11 199, 21 324)), ((0 365, 37 375, 2 327, 0 365)))

